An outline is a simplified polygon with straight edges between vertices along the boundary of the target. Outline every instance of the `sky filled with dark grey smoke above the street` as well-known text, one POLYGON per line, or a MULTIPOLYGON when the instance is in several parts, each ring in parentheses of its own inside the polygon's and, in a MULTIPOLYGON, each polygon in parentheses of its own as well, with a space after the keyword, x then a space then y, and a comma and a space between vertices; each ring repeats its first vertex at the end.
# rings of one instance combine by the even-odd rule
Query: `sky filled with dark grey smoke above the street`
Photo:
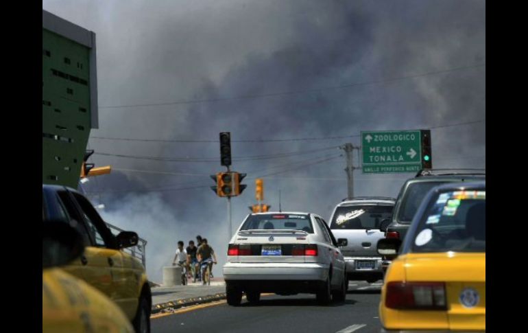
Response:
MULTIPOLYGON (((341 137, 232 142, 232 169, 248 174, 232 200, 233 228, 255 203, 259 176, 272 209, 280 190, 283 210, 328 220, 347 194, 337 146, 359 145, 352 136, 362 130, 432 128, 435 168, 485 168, 485 1, 43 0, 43 9, 97 34, 99 129, 89 148, 96 165, 115 170, 85 190, 105 203, 108 222, 147 239, 156 282, 176 242, 198 233, 225 260, 226 200, 208 188, 208 175, 225 169, 219 132, 232 141, 341 137), (453 124, 464 125, 437 128, 453 124), (295 154, 237 161, 285 152, 295 154)), ((395 197, 411 176, 356 170, 355 194, 395 197)))

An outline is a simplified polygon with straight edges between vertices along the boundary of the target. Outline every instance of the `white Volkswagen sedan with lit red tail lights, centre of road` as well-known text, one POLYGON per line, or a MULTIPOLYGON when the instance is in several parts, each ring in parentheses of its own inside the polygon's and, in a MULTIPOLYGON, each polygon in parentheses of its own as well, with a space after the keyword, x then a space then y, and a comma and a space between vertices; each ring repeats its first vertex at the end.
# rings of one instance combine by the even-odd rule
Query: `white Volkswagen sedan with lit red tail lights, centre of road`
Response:
POLYGON ((248 215, 230 241, 224 279, 232 306, 241 303, 243 293, 257 302, 261 292, 344 301, 348 284, 332 231, 321 216, 304 212, 248 215))

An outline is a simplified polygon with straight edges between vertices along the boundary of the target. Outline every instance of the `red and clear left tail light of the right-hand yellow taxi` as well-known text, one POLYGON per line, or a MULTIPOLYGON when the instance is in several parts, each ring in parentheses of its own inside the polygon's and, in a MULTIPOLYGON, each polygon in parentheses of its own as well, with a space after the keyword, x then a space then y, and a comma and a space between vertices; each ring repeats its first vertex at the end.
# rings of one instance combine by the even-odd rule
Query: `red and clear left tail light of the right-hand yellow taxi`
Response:
POLYGON ((385 306, 392 309, 446 310, 443 282, 389 282, 385 306))

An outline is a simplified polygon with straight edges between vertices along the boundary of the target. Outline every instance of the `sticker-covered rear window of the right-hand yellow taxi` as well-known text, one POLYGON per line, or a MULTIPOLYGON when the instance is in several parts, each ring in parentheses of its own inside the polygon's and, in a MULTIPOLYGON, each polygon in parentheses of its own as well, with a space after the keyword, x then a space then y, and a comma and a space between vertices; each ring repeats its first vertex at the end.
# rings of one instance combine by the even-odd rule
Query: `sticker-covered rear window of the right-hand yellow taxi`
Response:
POLYGON ((485 190, 443 192, 420 218, 413 252, 485 252, 485 190))

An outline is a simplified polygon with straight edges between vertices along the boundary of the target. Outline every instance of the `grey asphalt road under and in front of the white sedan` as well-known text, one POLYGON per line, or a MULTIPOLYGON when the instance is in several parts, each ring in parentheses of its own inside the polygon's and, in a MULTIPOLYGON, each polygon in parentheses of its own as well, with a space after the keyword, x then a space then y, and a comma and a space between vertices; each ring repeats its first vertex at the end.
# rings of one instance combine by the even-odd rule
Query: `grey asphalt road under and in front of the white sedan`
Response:
POLYGON ((315 295, 262 296, 256 305, 189 308, 187 312, 152 319, 152 332, 379 332, 381 281, 350 282, 346 301, 320 306, 315 295))

